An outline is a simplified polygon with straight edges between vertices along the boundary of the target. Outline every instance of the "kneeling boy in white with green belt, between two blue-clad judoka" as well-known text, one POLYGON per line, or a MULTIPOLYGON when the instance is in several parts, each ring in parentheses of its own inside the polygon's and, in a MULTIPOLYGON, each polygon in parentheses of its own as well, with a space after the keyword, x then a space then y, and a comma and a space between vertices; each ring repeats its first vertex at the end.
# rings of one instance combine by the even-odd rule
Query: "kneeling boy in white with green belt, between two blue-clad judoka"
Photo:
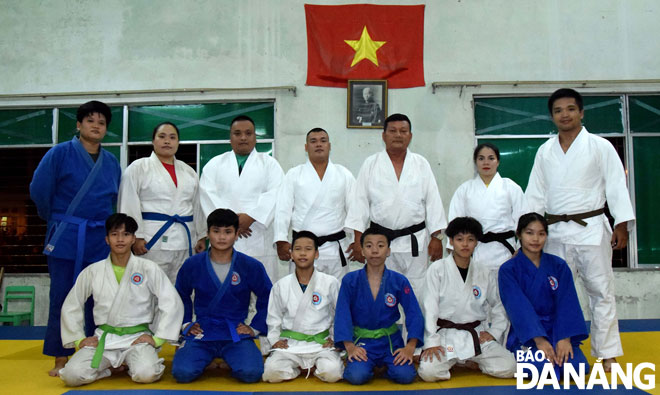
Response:
POLYGON ((319 257, 318 238, 309 231, 296 232, 291 242, 293 273, 273 285, 268 301, 268 341, 263 380, 292 380, 300 368, 316 367, 314 375, 327 382, 341 379, 344 363, 333 348, 332 324, 339 280, 314 269, 319 257))

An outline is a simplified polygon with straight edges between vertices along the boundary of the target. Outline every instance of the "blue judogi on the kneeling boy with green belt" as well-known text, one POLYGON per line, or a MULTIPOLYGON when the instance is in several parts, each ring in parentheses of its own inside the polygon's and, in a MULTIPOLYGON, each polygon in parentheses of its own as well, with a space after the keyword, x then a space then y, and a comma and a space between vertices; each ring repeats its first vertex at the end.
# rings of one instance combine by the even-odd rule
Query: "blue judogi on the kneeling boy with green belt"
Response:
MULTIPOLYGON (((417 347, 424 341, 424 318, 408 279, 385 268, 378 296, 374 300, 367 279, 367 267, 344 276, 337 298, 335 313, 335 346, 344 348, 344 341, 355 341, 354 327, 370 330, 389 328, 401 317, 399 304, 406 316, 408 339, 417 339, 417 347)), ((351 384, 364 384, 371 380, 374 367, 387 366, 387 377, 401 384, 411 383, 417 372, 413 365, 394 365, 390 350, 405 346, 401 331, 378 339, 360 338, 356 345, 367 351, 367 361, 348 362, 344 379, 351 384)))

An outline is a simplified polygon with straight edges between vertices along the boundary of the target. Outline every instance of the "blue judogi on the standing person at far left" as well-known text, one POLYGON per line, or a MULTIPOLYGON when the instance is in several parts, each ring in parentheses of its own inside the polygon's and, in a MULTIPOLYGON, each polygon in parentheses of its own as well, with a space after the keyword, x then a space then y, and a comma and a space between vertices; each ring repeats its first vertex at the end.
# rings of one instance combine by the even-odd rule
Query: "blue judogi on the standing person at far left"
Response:
MULTIPOLYGON (((34 171, 30 197, 39 216, 48 221, 44 254, 51 285, 46 355, 73 354, 62 347, 62 303, 78 273, 108 256, 104 223, 114 211, 120 180, 121 168, 114 155, 100 148, 94 162, 78 137, 51 148, 34 171)), ((86 327, 93 331, 91 303, 86 311, 86 327)))

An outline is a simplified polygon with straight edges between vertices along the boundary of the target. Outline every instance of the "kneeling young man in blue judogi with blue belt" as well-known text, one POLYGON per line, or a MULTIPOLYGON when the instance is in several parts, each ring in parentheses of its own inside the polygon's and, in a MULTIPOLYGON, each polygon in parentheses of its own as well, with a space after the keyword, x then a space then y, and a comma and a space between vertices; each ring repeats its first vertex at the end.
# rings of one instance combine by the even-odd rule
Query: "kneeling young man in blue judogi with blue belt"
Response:
POLYGON ((185 307, 185 342, 174 354, 172 375, 180 383, 189 383, 219 357, 231 368, 232 377, 253 383, 264 371, 254 338, 267 331, 266 310, 272 285, 261 262, 234 249, 238 239, 236 213, 217 209, 206 223, 211 248, 188 258, 176 279, 185 307), (257 313, 248 326, 244 321, 251 293, 257 297, 257 313))

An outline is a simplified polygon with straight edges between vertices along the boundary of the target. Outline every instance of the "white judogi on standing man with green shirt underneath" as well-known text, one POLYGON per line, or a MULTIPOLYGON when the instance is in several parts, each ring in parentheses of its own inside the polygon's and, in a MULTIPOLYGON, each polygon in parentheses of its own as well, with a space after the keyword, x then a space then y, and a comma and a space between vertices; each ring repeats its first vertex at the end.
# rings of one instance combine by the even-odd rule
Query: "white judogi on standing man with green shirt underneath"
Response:
POLYGON ((227 208, 255 219, 250 226, 252 235, 238 239, 234 248, 260 261, 272 281, 279 276, 277 254, 272 246, 271 223, 275 215, 277 190, 283 177, 284 172, 274 158, 253 149, 240 175, 236 154, 229 151, 204 166, 199 182, 205 217, 215 209, 227 208))

